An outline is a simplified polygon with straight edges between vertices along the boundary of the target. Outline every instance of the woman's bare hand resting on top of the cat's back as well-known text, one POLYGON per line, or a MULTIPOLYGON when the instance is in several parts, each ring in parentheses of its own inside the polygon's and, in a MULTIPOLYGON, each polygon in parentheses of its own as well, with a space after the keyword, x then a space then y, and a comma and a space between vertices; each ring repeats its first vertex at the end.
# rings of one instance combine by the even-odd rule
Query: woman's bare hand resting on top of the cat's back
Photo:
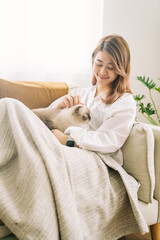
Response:
POLYGON ((80 96, 79 95, 73 96, 71 94, 67 94, 58 103, 57 107, 59 107, 59 108, 66 108, 66 107, 69 108, 69 107, 72 107, 72 106, 77 105, 79 103, 80 103, 80 96))

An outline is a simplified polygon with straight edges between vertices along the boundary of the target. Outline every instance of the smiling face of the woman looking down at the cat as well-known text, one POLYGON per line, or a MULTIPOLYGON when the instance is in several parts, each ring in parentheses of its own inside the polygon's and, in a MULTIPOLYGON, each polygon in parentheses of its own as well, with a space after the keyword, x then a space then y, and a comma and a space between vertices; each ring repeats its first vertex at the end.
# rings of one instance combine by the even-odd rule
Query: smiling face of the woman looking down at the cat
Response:
POLYGON ((107 52, 100 51, 97 53, 92 71, 97 79, 97 84, 104 88, 117 78, 111 57, 107 52))

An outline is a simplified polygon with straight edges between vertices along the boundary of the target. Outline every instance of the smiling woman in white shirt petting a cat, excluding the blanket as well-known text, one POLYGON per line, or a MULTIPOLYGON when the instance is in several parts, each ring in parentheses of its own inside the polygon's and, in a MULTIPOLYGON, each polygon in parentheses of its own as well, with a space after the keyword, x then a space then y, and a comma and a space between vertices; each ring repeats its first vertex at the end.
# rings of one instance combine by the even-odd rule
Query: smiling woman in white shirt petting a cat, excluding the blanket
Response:
POLYGON ((104 37, 92 54, 92 87, 77 88, 53 105, 62 107, 83 103, 90 108, 89 129, 70 127, 65 134, 52 130, 66 145, 69 138, 74 146, 101 153, 112 153, 122 147, 136 115, 136 104, 129 86, 130 51, 119 35, 104 37))

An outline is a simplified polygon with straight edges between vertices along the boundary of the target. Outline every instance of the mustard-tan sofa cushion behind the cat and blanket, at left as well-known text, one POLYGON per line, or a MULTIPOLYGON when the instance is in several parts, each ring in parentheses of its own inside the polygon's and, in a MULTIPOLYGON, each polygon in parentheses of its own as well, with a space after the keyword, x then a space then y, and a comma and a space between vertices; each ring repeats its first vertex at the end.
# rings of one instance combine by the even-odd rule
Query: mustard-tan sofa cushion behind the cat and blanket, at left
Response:
POLYGON ((30 109, 47 107, 67 93, 68 86, 64 82, 25 82, 0 79, 0 98, 15 98, 30 109))

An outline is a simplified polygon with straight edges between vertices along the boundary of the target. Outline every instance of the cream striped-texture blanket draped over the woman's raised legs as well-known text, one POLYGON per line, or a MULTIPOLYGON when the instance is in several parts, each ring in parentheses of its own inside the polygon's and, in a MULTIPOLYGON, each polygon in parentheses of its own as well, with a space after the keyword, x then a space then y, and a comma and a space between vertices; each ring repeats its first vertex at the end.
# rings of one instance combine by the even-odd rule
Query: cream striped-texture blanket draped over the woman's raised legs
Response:
POLYGON ((62 146, 22 103, 0 100, 0 219, 18 239, 145 233, 137 189, 109 155, 62 146))

